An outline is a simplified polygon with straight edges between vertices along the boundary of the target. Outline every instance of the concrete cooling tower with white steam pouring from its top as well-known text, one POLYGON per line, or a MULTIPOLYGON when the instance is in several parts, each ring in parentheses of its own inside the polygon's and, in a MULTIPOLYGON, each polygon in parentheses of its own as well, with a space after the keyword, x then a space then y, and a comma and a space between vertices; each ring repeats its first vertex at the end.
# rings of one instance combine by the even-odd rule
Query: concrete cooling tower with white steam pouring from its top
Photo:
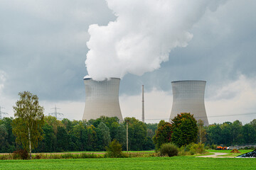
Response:
POLYGON ((82 120, 116 116, 122 121, 122 113, 119 106, 119 82, 118 78, 104 81, 95 81, 85 78, 85 111, 82 120))

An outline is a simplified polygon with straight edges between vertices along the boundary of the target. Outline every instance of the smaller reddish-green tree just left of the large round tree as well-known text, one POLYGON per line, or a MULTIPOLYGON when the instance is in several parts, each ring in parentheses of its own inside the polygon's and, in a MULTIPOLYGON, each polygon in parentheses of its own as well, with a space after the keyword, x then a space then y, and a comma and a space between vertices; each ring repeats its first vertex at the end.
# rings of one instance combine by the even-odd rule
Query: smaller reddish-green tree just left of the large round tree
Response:
POLYGON ((169 122, 161 120, 153 137, 153 142, 156 145, 156 150, 159 150, 164 143, 171 142, 172 125, 169 122))

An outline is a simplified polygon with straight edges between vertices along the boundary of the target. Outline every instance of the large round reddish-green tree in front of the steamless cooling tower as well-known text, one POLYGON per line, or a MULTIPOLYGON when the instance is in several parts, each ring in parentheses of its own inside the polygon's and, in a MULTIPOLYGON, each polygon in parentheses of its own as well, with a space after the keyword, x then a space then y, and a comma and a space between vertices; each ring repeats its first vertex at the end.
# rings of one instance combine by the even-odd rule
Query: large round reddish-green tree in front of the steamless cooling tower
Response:
POLYGON ((191 142, 196 142, 198 136, 198 126, 196 119, 190 113, 178 114, 173 122, 173 133, 171 135, 171 141, 178 147, 188 145, 191 142))

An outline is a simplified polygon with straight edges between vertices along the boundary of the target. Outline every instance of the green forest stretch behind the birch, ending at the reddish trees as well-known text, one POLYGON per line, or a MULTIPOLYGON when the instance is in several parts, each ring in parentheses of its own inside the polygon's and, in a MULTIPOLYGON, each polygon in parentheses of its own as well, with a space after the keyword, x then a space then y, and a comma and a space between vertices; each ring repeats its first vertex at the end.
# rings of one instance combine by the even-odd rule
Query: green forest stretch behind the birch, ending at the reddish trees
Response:
MULTIPOLYGON (((0 120, 0 152, 14 152, 21 148, 13 134, 14 118, 0 120)), ((129 150, 154 149, 152 137, 157 123, 142 123, 136 118, 125 118, 119 123, 116 117, 100 117, 96 120, 57 120, 44 118, 43 140, 33 152, 105 151, 112 140, 117 140, 126 150, 127 123, 129 150)))

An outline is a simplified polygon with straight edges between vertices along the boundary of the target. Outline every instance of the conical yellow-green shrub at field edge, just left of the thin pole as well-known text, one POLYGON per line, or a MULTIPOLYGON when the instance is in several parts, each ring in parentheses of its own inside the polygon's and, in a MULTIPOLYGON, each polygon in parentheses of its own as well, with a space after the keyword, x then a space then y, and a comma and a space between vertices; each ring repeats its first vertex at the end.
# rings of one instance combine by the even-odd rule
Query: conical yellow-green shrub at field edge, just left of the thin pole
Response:
POLYGON ((122 145, 117 140, 110 142, 106 150, 107 157, 122 157, 122 145))

